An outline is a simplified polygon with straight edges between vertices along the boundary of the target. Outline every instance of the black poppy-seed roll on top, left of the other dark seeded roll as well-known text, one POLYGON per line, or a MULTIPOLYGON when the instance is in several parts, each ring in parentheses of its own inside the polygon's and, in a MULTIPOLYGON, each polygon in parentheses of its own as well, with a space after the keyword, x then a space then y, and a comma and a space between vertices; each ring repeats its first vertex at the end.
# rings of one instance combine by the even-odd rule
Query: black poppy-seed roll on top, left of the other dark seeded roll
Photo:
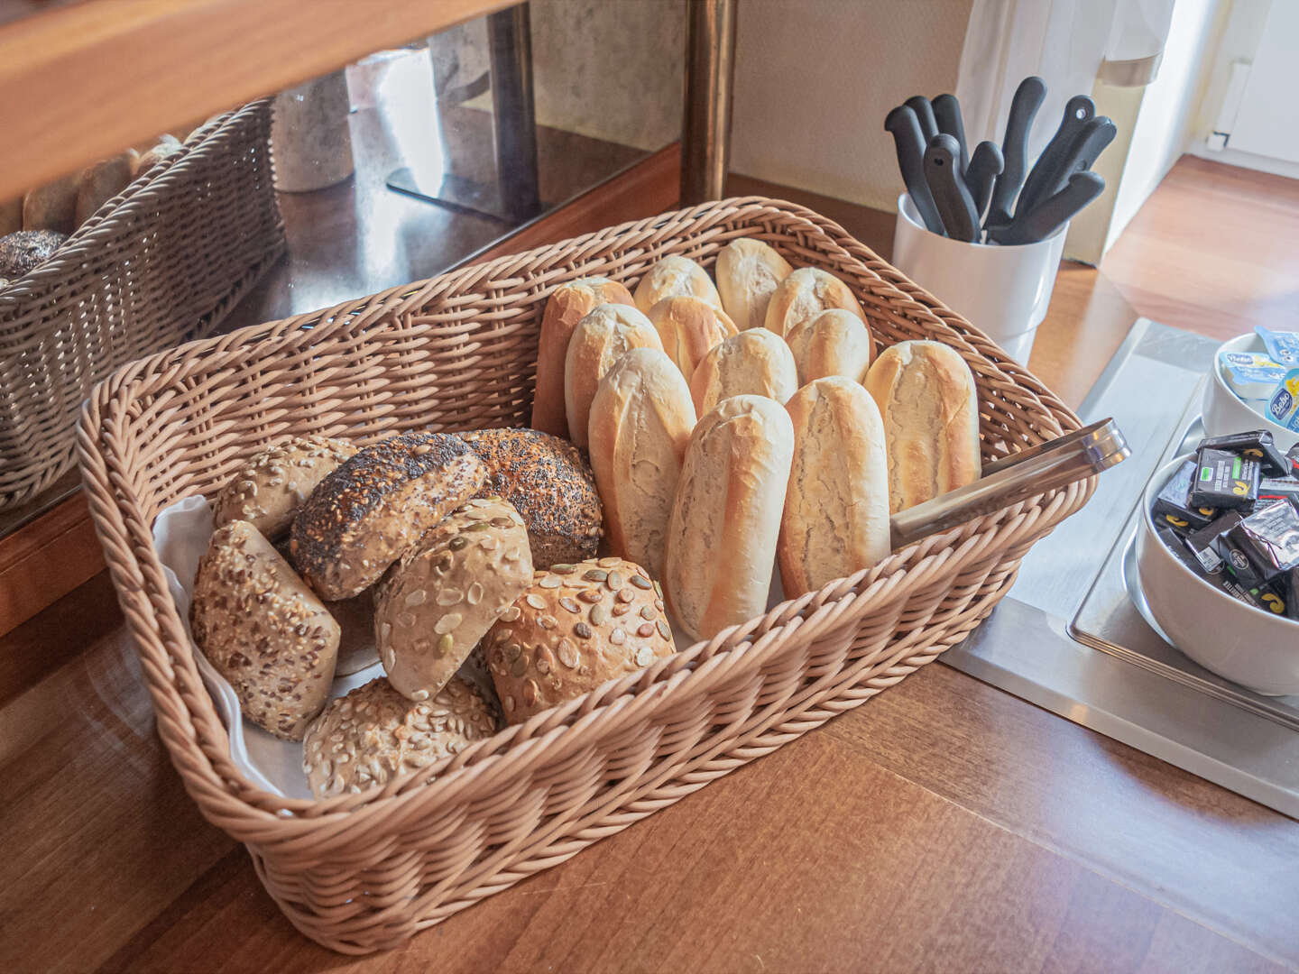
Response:
POLYGON ((457 436, 403 432, 336 468, 294 518, 290 555, 330 600, 369 588, 423 532, 472 497, 487 468, 457 436))

